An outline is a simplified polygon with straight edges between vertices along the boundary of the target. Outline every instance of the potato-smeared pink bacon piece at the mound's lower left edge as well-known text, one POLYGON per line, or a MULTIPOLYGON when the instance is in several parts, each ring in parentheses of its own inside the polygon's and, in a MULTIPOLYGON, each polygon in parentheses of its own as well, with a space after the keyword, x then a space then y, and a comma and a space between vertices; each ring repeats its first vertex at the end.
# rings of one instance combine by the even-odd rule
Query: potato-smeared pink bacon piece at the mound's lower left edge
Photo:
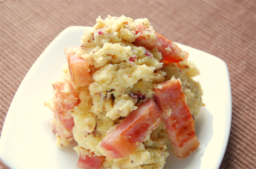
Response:
POLYGON ((52 130, 57 137, 61 139, 69 139, 73 137, 72 128, 74 127, 73 117, 67 113, 68 110, 74 108, 79 102, 78 95, 71 83, 67 83, 69 94, 63 92, 64 83, 58 82, 53 84, 55 88, 54 95, 54 119, 52 130))

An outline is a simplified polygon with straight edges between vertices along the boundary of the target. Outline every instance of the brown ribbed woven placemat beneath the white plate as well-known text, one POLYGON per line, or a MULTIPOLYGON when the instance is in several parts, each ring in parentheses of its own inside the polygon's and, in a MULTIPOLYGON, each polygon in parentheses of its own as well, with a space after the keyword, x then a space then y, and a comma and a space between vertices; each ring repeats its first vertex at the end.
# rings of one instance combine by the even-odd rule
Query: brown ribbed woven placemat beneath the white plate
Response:
MULTIPOLYGON (((0 132, 22 79, 63 29, 93 26, 98 15, 106 18, 122 14, 133 19, 146 17, 158 33, 172 41, 213 54, 227 63, 232 124, 220 168, 255 168, 255 0, 1 0, 0 132)), ((0 168, 8 166, 0 161, 0 168)))

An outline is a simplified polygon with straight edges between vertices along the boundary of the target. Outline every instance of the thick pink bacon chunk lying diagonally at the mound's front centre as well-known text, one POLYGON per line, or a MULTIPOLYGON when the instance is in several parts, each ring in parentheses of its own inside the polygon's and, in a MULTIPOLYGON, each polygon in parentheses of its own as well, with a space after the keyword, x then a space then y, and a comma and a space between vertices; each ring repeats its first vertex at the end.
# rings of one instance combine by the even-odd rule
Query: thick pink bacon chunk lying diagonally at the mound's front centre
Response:
POLYGON ((115 130, 110 131, 103 138, 100 146, 106 152, 107 159, 112 160, 131 154, 161 121, 161 112, 153 100, 148 99, 139 104, 138 109, 133 110, 117 124, 115 130))

